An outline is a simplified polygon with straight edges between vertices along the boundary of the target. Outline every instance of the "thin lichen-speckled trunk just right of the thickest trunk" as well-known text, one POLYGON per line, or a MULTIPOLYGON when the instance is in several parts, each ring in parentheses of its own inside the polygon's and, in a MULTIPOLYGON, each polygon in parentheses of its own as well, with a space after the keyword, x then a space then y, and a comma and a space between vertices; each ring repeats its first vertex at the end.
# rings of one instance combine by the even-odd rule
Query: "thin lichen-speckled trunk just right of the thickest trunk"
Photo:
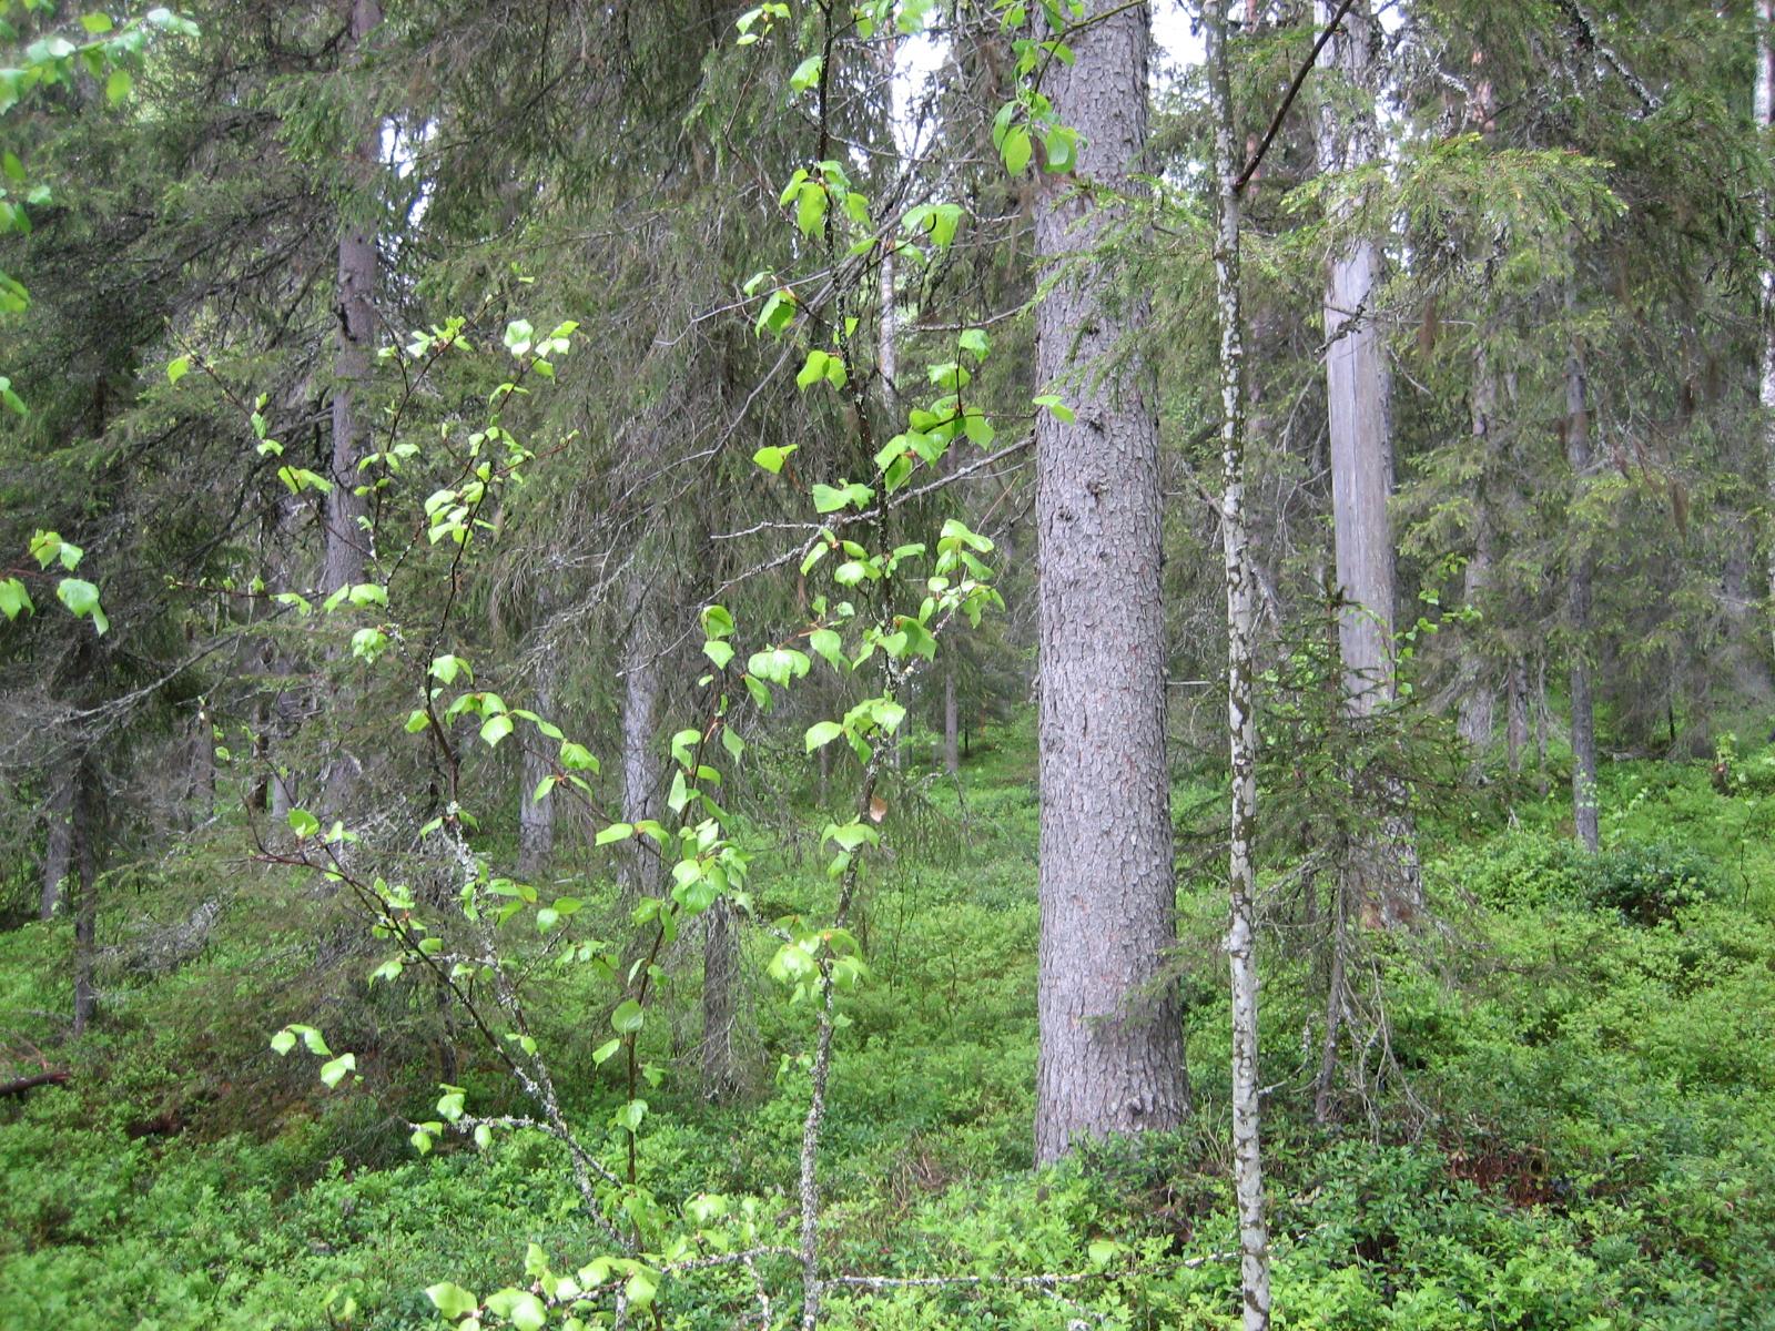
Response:
POLYGON ((1202 7, 1207 25, 1209 96, 1214 103, 1214 174, 1218 227, 1214 293, 1219 307, 1221 383, 1221 541, 1227 559, 1227 733, 1232 760, 1228 829, 1230 918, 1227 958, 1232 973, 1232 1154, 1239 1201, 1244 1329, 1269 1327, 1269 1221, 1264 1212, 1264 1162, 1257 1063, 1257 612, 1250 536, 1244 515, 1244 312, 1239 298, 1239 169, 1232 87, 1227 75, 1223 0, 1202 7))

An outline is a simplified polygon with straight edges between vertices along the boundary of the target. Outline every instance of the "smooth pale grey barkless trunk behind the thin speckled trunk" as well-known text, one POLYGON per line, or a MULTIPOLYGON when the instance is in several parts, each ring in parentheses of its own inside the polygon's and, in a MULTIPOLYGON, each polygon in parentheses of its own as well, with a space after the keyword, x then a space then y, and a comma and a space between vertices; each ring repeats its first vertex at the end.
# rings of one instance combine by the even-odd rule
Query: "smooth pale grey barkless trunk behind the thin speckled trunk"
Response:
MULTIPOLYGON (((1322 23, 1338 5, 1317 0, 1322 23)), ((1321 170, 1353 170, 1379 160, 1379 92, 1376 44, 1379 28, 1367 0, 1358 0, 1326 44, 1324 64, 1344 87, 1326 99, 1319 124, 1321 170)), ((1393 529, 1386 500, 1393 486, 1388 419, 1386 348, 1376 327, 1381 252, 1367 236, 1345 241, 1331 256, 1326 280, 1326 410, 1331 453, 1331 531, 1338 591, 1338 651, 1351 715, 1361 721, 1393 701, 1393 529)), ((1404 804, 1388 784, 1384 799, 1404 804)), ((1395 926, 1424 909, 1424 880, 1415 832, 1399 813, 1379 834, 1353 847, 1356 877, 1369 903, 1363 918, 1395 926)))

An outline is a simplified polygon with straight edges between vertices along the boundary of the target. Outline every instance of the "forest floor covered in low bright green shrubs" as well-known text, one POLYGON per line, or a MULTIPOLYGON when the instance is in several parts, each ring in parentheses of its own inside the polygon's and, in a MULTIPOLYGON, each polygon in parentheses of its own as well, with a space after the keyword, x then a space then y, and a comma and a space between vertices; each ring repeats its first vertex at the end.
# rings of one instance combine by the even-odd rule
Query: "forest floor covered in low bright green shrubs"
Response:
MULTIPOLYGON (((822 1161, 825 1251, 831 1271, 1090 1278, 1063 1297, 856 1290, 829 1326, 1232 1327, 1223 896, 1212 875, 1182 896, 1193 1125, 1033 1173, 1028 722, 999 745, 966 765, 964 800, 941 779, 905 800, 870 882, 872 978, 845 1008, 822 1161)), ((1345 1099, 1337 1127, 1310 1113, 1324 1001, 1310 930, 1276 903, 1262 964, 1278 1326, 1775 1327, 1775 756, 1738 760, 1724 784, 1708 763, 1610 765, 1596 861, 1567 841, 1557 779, 1548 797, 1528 783, 1514 802, 1425 816, 1441 928, 1369 941, 1390 1058, 1370 1047, 1372 1093, 1345 1099)), ((71 1072, 0 1100, 0 1326, 433 1327, 428 1285, 520 1281, 531 1242, 586 1260, 545 1143, 414 1157, 401 1118, 430 1118, 437 1097, 430 1004, 366 997, 375 957, 316 965, 312 939, 346 935, 337 903, 240 845, 224 825, 114 875, 105 1015, 80 1045, 57 1036, 69 926, 0 933, 0 1081, 34 1070, 36 1047, 71 1072), (181 958, 208 900, 224 910, 181 958), (275 1058, 288 1020, 360 1051, 364 1084, 325 1091, 312 1065, 275 1058)), ((816 905, 824 875, 779 854, 753 891, 774 918, 816 905)), ((680 1019, 655 1033, 673 1072, 651 1093, 643 1175, 664 1198, 756 1194, 786 1235, 806 1004, 758 976, 758 1081, 710 1109, 694 955, 669 969, 680 1019)), ((596 1136, 621 1099, 584 1035, 604 999, 568 973, 536 988, 557 1081, 596 1136)), ((462 1077, 506 1093, 490 1063, 462 1077)), ((769 1274, 792 1311, 792 1267, 769 1274)), ((659 1326, 733 1326, 737 1290, 667 1283, 659 1326)))

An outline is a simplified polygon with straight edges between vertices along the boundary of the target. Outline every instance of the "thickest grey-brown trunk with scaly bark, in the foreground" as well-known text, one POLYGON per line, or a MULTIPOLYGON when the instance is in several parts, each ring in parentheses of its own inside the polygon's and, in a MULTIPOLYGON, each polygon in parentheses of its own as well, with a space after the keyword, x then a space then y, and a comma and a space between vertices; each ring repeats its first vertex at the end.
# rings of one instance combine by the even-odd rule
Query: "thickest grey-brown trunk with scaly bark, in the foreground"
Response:
MULTIPOLYGON (((1099 0, 1047 92, 1083 140, 1079 176, 1124 186, 1147 144, 1145 7, 1099 0)), ((1113 220, 1042 176, 1037 254, 1088 252, 1113 220)), ((1177 1127, 1187 1111, 1179 994, 1164 976, 1177 894, 1164 756, 1159 431, 1138 353, 1145 303, 1069 268, 1037 307, 1037 382, 1077 421, 1037 421, 1040 898, 1035 1155, 1177 1127)))

